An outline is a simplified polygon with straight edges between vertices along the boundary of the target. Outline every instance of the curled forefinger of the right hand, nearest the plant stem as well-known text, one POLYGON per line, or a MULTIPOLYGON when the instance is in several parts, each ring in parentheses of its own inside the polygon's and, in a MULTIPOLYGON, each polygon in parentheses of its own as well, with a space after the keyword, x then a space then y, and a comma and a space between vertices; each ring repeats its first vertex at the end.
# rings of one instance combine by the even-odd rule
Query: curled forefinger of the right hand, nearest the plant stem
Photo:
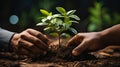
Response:
POLYGON ((72 37, 72 38, 67 42, 67 46, 79 45, 82 40, 83 40, 83 37, 81 37, 81 36, 79 36, 79 35, 75 35, 74 37, 72 37))

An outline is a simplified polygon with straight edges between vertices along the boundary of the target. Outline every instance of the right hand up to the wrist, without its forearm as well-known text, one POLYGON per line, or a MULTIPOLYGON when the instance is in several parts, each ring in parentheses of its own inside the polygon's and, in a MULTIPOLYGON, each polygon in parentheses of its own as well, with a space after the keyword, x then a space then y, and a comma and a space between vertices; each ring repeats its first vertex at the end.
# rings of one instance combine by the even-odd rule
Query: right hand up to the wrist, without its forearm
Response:
POLYGON ((72 54, 78 56, 86 50, 104 48, 106 45, 104 45, 101 37, 102 35, 99 32, 78 33, 68 41, 67 46, 76 45, 77 47, 73 49, 72 54))

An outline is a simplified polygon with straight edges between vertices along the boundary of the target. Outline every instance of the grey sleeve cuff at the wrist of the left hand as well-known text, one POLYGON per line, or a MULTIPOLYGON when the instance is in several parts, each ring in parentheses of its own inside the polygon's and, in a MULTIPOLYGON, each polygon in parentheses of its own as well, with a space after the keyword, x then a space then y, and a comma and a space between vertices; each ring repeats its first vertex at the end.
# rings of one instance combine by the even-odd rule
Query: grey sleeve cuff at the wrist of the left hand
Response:
POLYGON ((0 51, 9 51, 10 49, 10 40, 14 32, 0 28, 0 51))

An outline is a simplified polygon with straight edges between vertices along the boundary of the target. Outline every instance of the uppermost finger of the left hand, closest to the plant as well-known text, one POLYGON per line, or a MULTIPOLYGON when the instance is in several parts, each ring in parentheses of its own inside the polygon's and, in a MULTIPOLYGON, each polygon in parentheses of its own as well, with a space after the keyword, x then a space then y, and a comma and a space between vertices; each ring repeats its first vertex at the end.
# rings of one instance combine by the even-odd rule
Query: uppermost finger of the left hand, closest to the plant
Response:
POLYGON ((46 44, 50 44, 50 40, 47 38, 46 35, 42 34, 39 31, 33 30, 33 29, 28 29, 27 30, 31 35, 41 39, 43 42, 45 42, 46 44))

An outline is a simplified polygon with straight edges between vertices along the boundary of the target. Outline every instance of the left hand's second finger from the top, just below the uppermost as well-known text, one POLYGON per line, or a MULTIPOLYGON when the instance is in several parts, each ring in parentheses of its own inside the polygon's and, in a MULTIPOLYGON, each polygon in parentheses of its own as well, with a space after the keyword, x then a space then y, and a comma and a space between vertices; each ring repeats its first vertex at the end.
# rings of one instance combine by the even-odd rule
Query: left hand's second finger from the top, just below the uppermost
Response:
POLYGON ((40 49, 45 49, 45 50, 48 49, 48 45, 47 45, 47 44, 45 44, 45 43, 42 42, 40 39, 32 36, 32 35, 29 34, 29 33, 26 33, 25 35, 21 35, 21 38, 22 38, 23 40, 26 40, 26 41, 28 41, 28 42, 33 43, 35 46, 37 46, 37 47, 40 48, 40 49), (27 35, 27 36, 26 36, 26 35, 27 35))

